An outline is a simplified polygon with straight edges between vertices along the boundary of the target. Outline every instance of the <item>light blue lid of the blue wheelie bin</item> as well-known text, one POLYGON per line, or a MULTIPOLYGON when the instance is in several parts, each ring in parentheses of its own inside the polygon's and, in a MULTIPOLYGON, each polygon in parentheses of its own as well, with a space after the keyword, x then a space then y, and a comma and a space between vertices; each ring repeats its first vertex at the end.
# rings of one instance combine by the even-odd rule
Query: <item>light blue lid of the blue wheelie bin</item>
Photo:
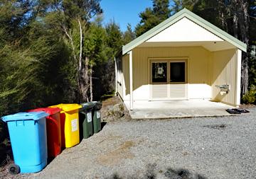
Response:
POLYGON ((18 112, 14 115, 6 115, 1 117, 4 122, 16 121, 16 120, 41 120, 43 117, 47 117, 49 114, 43 111, 38 112, 18 112))

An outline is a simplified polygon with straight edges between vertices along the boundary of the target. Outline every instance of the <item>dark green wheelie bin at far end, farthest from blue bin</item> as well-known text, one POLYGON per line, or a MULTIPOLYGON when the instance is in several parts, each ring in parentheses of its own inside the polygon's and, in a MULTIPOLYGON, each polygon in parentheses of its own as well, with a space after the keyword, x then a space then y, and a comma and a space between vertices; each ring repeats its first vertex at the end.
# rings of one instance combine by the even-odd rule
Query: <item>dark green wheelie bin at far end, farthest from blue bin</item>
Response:
POLYGON ((92 101, 91 103, 94 104, 94 108, 92 110, 93 133, 97 133, 101 130, 100 109, 102 108, 102 103, 98 101, 92 101))

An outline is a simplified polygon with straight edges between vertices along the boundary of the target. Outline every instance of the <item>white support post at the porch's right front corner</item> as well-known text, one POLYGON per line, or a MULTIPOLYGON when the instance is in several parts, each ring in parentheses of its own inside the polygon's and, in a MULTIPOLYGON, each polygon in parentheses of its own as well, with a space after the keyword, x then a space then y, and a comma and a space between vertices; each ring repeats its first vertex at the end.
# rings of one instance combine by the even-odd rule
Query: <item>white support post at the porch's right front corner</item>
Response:
POLYGON ((237 50, 236 52, 236 67, 237 67, 237 74, 235 76, 235 83, 236 83, 236 94, 235 94, 235 105, 239 107, 240 105, 240 93, 241 93, 241 63, 242 63, 242 51, 237 50))

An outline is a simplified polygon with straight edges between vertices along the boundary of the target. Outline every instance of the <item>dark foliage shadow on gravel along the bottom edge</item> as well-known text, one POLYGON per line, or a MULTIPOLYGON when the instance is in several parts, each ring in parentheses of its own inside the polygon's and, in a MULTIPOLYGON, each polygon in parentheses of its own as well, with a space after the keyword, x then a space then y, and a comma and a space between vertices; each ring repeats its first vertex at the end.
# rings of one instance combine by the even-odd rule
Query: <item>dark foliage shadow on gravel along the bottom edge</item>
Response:
MULTIPOLYGON (((190 171, 186 169, 173 169, 173 168, 168 168, 166 171, 156 171, 156 163, 154 164, 149 164, 147 166, 146 173, 142 177, 137 177, 137 176, 129 176, 125 178, 129 179, 156 179, 156 176, 162 173, 164 176, 168 179, 207 179, 205 176, 198 174, 198 173, 191 173, 190 171)), ((109 178, 105 179, 124 179, 124 177, 120 176, 118 173, 114 173, 111 175, 109 178)))

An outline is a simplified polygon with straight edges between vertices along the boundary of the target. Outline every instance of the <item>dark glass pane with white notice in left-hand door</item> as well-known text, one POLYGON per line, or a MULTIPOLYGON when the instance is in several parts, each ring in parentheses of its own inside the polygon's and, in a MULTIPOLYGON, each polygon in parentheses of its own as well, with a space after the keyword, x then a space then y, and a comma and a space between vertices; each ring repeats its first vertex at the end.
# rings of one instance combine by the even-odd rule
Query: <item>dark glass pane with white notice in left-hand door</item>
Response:
POLYGON ((167 82, 167 63, 152 63, 152 82, 167 82))

